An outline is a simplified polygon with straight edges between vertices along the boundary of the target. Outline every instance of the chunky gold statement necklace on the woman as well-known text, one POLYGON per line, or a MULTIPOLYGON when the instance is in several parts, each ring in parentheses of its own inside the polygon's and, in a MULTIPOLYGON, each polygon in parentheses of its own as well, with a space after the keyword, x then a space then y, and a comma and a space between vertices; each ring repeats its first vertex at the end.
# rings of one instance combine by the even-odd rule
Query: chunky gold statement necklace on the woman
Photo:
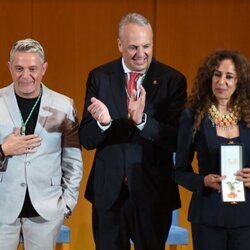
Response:
POLYGON ((233 126, 238 124, 240 120, 240 108, 234 105, 232 111, 226 115, 220 113, 214 104, 208 109, 208 117, 211 120, 213 126, 223 130, 229 130, 233 126))

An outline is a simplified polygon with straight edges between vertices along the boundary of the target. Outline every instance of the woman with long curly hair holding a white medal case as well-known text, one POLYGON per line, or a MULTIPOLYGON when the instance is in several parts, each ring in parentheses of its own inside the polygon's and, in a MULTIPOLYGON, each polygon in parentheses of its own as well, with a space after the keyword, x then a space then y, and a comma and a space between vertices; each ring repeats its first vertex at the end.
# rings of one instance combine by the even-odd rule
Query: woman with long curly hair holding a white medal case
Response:
POLYGON ((174 179, 193 192, 188 219, 194 250, 250 249, 250 65, 239 52, 214 51, 198 69, 180 120, 174 179), (243 181, 245 202, 222 200, 225 143, 243 145, 235 181, 243 181))

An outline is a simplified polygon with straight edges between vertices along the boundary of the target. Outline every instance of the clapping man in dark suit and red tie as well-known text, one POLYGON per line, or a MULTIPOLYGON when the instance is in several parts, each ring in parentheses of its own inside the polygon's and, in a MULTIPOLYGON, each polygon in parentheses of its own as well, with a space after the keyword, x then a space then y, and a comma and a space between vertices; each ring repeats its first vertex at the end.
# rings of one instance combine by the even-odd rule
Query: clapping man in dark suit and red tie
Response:
POLYGON ((152 59, 152 27, 137 13, 122 18, 118 48, 122 58, 89 74, 80 126, 82 145, 96 149, 85 194, 96 249, 127 250, 132 239, 136 250, 163 250, 180 207, 171 175, 186 80, 152 59))

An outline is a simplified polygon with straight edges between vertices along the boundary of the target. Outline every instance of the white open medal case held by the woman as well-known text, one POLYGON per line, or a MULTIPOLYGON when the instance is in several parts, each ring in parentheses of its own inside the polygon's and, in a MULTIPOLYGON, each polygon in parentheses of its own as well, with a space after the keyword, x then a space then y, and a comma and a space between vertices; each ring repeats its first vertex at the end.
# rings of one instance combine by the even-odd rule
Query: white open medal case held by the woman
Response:
POLYGON ((245 189, 242 181, 236 180, 235 173, 242 169, 243 147, 241 144, 221 145, 221 175, 226 176, 221 182, 222 200, 224 202, 244 202, 245 189))

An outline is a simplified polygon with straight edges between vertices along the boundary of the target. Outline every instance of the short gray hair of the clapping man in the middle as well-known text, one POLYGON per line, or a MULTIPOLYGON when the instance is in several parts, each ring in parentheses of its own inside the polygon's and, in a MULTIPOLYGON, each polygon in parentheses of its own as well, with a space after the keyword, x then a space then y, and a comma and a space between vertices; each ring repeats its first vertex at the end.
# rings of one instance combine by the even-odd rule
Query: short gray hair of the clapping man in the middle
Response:
MULTIPOLYGON (((119 38, 122 39, 123 33, 124 33, 124 27, 127 24, 137 24, 139 26, 149 26, 152 30, 152 26, 149 22, 149 20, 138 13, 129 13, 126 16, 122 17, 120 23, 119 23, 119 38)), ((153 30, 152 30, 153 32, 153 30)))

